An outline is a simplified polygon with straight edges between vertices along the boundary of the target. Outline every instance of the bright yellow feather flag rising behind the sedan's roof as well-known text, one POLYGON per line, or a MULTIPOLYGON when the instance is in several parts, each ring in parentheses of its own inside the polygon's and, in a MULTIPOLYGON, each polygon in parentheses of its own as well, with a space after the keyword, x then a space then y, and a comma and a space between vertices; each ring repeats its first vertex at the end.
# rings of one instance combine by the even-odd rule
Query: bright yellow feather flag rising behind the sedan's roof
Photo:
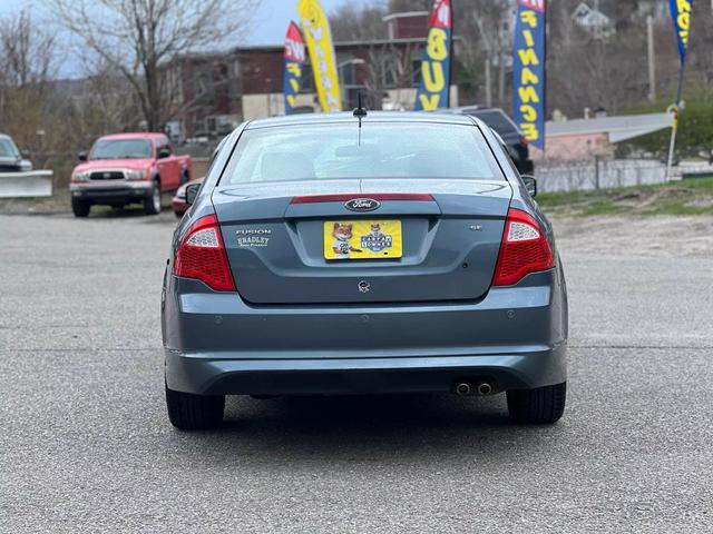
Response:
POLYGON ((310 51, 314 85, 320 97, 322 111, 341 111, 342 92, 339 88, 330 22, 319 0, 300 0, 297 12, 310 51))

